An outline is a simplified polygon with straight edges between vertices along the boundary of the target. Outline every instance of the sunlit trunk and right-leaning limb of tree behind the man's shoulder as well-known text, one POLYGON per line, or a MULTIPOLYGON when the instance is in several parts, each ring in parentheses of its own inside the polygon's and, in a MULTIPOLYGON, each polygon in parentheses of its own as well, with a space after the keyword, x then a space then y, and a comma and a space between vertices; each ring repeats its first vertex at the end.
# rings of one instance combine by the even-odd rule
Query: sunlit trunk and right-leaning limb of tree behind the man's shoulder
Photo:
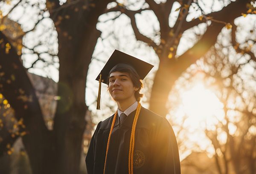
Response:
MULTIPOLYGON (((215 20, 230 23, 236 19, 236 17, 241 16, 242 12, 246 13, 246 4, 246 0, 238 0, 236 2, 232 2, 227 7, 224 7, 221 11, 209 14, 209 16, 214 17, 215 20)), ((189 23, 184 23, 183 28, 189 29, 190 27, 195 26, 195 23, 198 23, 198 20, 199 19, 192 20, 189 23)), ((163 48, 161 53, 158 53, 160 64, 151 91, 151 98, 149 102, 151 111, 154 111, 163 117, 166 116, 168 113, 166 102, 175 80, 180 77, 182 72, 186 71, 186 68, 204 56, 209 48, 215 44, 217 36, 224 26, 225 25, 223 23, 212 22, 201 40, 183 55, 178 57, 177 60, 175 58, 168 59, 168 54, 166 54, 166 52, 168 53, 169 51, 164 50, 165 48, 163 48)), ((183 28, 181 28, 181 30, 183 30, 183 28)), ((169 49, 169 47, 167 49, 169 49)))

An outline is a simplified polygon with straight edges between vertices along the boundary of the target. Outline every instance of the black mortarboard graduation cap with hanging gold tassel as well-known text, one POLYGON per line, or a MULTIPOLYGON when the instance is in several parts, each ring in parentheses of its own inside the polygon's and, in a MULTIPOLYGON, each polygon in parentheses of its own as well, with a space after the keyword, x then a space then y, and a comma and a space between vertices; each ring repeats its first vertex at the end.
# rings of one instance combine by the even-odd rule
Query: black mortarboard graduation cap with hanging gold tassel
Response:
POLYGON ((153 68, 153 65, 122 51, 115 50, 96 78, 96 80, 99 81, 97 109, 100 109, 101 82, 107 84, 108 76, 112 72, 118 71, 121 68, 130 68, 139 75, 141 80, 143 80, 148 72, 153 68))

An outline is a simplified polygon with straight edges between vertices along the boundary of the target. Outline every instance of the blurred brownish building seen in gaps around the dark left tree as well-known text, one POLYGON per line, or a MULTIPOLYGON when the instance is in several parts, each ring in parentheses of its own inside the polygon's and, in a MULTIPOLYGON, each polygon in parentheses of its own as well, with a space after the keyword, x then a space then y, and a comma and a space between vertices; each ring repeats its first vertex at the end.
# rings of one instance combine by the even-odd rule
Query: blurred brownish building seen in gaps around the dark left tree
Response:
MULTIPOLYGON (((45 125, 49 130, 53 129, 53 119, 55 116, 55 110, 57 107, 57 92, 58 84, 52 79, 47 77, 41 77, 35 74, 27 73, 32 85, 35 88, 35 94, 38 97, 38 102, 41 106, 41 111, 44 117, 45 125)), ((4 100, 4 96, 3 99, 4 100)), ((3 105, 3 103, 2 103, 3 105)), ((0 119, 4 122, 4 129, 0 131, 0 137, 4 138, 9 134, 9 130, 17 120, 14 118, 14 111, 11 106, 0 106, 0 119), (3 116, 4 114, 4 116, 3 116), (2 118, 3 117, 3 118, 2 118)), ((87 121, 87 126, 84 131, 84 136, 81 144, 81 174, 86 174, 85 156, 89 147, 89 143, 92 136, 92 130, 95 124, 92 123, 91 112, 88 110, 84 119, 87 121)), ((0 174, 31 174, 31 168, 29 165, 29 158, 26 155, 25 147, 19 137, 13 144, 13 152, 10 155, 4 155, 0 158, 0 174)))

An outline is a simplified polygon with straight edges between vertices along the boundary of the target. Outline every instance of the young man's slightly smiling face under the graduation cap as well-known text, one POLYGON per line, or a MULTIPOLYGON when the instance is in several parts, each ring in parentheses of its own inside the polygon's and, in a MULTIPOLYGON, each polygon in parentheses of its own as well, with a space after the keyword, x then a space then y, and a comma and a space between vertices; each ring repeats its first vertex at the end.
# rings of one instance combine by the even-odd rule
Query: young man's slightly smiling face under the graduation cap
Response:
POLYGON ((134 87, 128 72, 115 71, 110 74, 108 90, 115 101, 136 100, 134 93, 138 89, 134 87))

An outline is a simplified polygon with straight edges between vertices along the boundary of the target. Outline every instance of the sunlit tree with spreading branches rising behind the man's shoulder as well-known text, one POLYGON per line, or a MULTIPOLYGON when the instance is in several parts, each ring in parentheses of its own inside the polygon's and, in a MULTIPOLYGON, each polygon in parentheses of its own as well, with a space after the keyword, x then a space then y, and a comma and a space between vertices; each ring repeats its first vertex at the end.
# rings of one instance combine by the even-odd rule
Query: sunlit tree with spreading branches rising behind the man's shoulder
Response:
MULTIPOLYGON (((165 3, 156 2, 154 0, 136 1, 135 3, 117 3, 117 5, 109 9, 109 12, 120 11, 121 14, 125 14, 131 20, 131 26, 134 31, 137 40, 143 41, 152 47, 159 58, 159 67, 155 74, 154 84, 152 86, 151 97, 149 101, 149 108, 165 116, 167 114, 166 102, 168 100, 168 94, 174 85, 175 80, 186 70, 192 63, 202 57, 209 48, 215 44, 217 36, 223 27, 230 28, 230 23, 234 19, 241 16, 241 13, 247 13, 247 3, 250 1, 237 0, 236 2, 217 1, 222 9, 215 11, 213 7, 206 8, 209 3, 214 5, 216 1, 201 1, 192 2, 192 0, 178 1, 178 8, 172 9, 175 4, 173 0, 167 0, 165 3), (138 7, 138 3, 141 3, 138 7), (135 9, 134 10, 134 6, 135 9), (131 10, 132 9, 132 10, 131 10), (237 9, 237 10, 232 10, 237 9), (172 11, 171 11, 172 10, 172 11), (152 33, 143 33, 139 20, 136 20, 138 14, 142 14, 147 11, 153 13, 157 17, 159 22, 159 28, 153 30, 152 33), (179 11, 177 18, 172 19, 173 25, 170 25, 170 13, 179 11), (201 13, 197 19, 187 21, 189 13, 201 13), (215 11, 215 12, 214 12, 215 11), (184 46, 180 44, 180 39, 186 34, 186 30, 192 29, 201 23, 207 25, 205 33, 199 33, 194 42, 192 48, 186 47, 187 51, 183 50, 182 54, 177 54, 178 46, 184 46), (168 77, 168 79, 166 79, 168 77), (163 88, 165 86, 165 88, 163 88)), ((117 14, 114 19, 120 15, 117 14)))

